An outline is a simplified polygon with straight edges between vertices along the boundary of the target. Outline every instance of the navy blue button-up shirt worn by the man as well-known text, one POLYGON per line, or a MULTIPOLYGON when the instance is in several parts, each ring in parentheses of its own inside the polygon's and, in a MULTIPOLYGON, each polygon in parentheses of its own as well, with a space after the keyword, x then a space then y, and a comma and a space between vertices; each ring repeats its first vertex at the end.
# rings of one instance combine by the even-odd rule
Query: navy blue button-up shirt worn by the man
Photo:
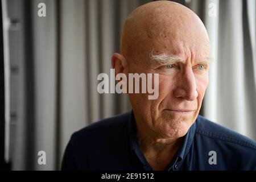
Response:
MULTIPOLYGON (((138 144, 133 111, 74 133, 61 169, 152 170, 138 144)), ((166 170, 256 170, 256 142, 199 115, 166 170)))

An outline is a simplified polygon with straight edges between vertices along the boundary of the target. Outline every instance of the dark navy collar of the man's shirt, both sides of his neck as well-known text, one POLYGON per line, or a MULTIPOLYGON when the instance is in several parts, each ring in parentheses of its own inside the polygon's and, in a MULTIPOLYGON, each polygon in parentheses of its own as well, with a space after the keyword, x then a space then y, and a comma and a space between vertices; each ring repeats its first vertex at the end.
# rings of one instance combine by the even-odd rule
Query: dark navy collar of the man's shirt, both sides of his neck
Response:
MULTIPOLYGON (((133 110, 131 110, 131 114, 129 117, 128 130, 129 130, 129 139, 130 139, 130 150, 135 151, 138 157, 141 159, 143 154, 139 148, 139 144, 137 140, 137 127, 136 127, 133 110)), ((184 135, 183 144, 181 145, 181 147, 179 148, 176 154, 176 156, 178 157, 176 159, 177 161, 183 160, 185 156, 188 154, 188 150, 191 147, 191 144, 195 136, 195 131, 196 131, 196 122, 193 123, 193 125, 189 128, 187 134, 184 135)))

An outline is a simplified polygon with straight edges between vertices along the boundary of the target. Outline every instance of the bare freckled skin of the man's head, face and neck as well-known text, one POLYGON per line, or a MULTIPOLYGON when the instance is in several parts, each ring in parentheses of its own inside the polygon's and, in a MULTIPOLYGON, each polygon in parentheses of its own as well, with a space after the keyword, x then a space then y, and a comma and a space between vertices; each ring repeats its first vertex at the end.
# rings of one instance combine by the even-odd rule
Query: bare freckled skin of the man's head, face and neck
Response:
POLYGON ((148 100, 148 94, 129 94, 139 144, 155 169, 164 168, 164 161, 170 162, 168 159, 180 146, 181 137, 199 114, 208 86, 208 69, 201 71, 197 63, 209 56, 204 24, 195 13, 178 3, 147 3, 135 9, 125 22, 121 53, 112 57, 115 73, 159 73, 156 100, 148 100), (152 51, 155 55, 180 56, 185 64, 172 70, 150 64, 152 51), (193 111, 189 114, 170 111, 175 109, 193 111))

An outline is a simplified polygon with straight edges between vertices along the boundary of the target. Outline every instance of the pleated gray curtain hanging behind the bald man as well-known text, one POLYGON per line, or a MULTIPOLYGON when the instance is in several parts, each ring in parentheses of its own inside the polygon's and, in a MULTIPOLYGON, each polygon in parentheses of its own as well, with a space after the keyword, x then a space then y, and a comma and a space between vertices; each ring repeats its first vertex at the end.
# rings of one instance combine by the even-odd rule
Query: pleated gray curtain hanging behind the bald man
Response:
MULTIPOLYGON (((147 2, 7 1, 9 19, 18 22, 9 28, 12 169, 59 169, 73 132, 131 109, 125 94, 98 94, 97 75, 110 72, 127 15, 147 2), (40 2, 46 17, 37 15, 40 2), (41 150, 46 165, 38 164, 41 150)), ((176 2, 194 10, 210 36, 214 61, 201 113, 256 139, 255 1, 176 2)))

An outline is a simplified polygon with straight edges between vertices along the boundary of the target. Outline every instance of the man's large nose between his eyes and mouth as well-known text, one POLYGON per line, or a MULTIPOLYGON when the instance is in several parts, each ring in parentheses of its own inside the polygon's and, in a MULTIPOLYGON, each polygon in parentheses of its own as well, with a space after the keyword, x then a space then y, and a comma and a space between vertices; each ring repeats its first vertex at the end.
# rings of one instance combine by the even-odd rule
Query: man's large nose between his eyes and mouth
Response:
POLYGON ((193 101, 197 98, 196 80, 192 68, 185 68, 177 82, 178 86, 174 91, 175 97, 183 97, 188 101, 193 101))

